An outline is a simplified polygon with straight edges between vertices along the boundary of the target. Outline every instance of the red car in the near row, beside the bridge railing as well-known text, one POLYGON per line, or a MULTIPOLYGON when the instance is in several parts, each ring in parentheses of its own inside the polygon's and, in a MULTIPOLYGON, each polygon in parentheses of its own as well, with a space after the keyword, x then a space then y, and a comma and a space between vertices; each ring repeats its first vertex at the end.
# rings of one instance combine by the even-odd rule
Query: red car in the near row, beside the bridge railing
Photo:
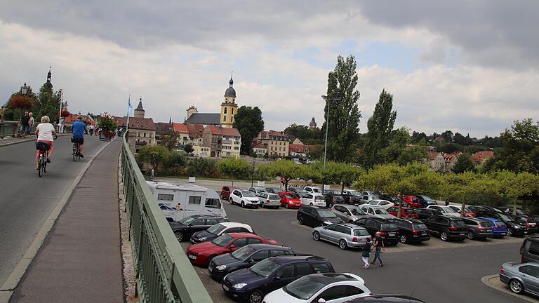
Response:
POLYGON ((232 253, 245 245, 257 243, 277 244, 277 241, 249 233, 222 234, 213 241, 190 245, 185 255, 192 264, 207 267, 213 257, 232 253))

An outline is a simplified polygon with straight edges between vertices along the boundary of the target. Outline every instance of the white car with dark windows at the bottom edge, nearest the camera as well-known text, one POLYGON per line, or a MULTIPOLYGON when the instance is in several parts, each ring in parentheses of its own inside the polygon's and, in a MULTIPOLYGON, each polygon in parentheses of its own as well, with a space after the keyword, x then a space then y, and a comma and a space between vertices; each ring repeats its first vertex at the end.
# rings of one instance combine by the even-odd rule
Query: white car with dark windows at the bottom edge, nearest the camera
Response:
POLYGON ((354 274, 310 274, 266 295, 265 303, 344 303, 371 295, 354 274), (343 291, 344 290, 344 291, 343 291))

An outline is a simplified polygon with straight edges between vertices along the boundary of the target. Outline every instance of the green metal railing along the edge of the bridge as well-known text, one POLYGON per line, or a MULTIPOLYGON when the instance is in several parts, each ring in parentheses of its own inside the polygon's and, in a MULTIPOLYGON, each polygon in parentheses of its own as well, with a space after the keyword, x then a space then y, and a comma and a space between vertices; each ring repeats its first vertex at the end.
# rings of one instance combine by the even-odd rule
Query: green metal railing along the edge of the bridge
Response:
POLYGON ((140 302, 213 302, 140 173, 126 135, 121 168, 140 302))

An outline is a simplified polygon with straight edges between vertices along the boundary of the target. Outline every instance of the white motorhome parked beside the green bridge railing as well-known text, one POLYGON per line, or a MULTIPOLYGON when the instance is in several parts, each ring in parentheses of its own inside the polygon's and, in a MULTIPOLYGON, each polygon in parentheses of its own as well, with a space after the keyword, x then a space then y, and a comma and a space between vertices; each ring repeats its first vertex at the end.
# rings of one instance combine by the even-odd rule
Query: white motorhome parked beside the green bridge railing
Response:
POLYGON ((147 181, 147 184, 167 220, 179 221, 190 215, 227 216, 213 189, 155 181, 147 181))

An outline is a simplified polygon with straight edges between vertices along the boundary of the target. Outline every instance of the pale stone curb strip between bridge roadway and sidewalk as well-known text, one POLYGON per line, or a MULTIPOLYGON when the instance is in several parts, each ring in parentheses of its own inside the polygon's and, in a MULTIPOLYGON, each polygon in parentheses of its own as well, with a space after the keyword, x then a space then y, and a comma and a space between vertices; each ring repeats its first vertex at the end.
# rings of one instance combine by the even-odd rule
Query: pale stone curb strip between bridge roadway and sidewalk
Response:
MULTIPOLYGON (((17 143, 19 142, 15 142, 14 144, 17 144, 17 143)), ((39 252, 39 249, 41 248, 41 245, 44 243, 45 238, 48 235, 48 232, 51 231, 56 220, 60 216, 60 213, 62 213, 62 210, 67 204, 67 201, 69 201, 69 198, 71 198, 75 187, 79 184, 80 180, 86 173, 86 170, 90 168, 93 161, 99 156, 99 154, 101 154, 101 152, 103 151, 103 149, 105 149, 105 147, 109 146, 110 143, 112 143, 112 140, 110 142, 107 142, 105 146, 101 147, 101 149, 99 149, 98 152, 95 153, 95 156, 93 156, 92 159, 88 161, 88 163, 86 163, 86 165, 82 168, 79 175, 76 175, 73 182, 69 185, 69 187, 67 187, 67 190, 63 194, 62 198, 60 198, 60 201, 58 202, 56 207, 53 209, 51 214, 48 215, 44 224, 41 226, 41 229, 39 229, 38 233, 36 234, 36 237, 34 238, 34 241, 32 241, 32 244, 30 244, 25 254, 22 255, 22 258, 18 262, 15 269, 13 269, 11 274, 8 276, 6 281, 4 281, 4 284, 0 286, 0 303, 9 302, 9 299, 11 298, 11 295, 13 295, 13 291, 15 290, 15 288, 20 283, 22 276, 25 275, 29 265, 32 263, 32 260, 34 260, 34 257, 36 257, 37 253, 39 252)), ((0 145, 0 147, 1 146, 2 145, 0 145)))

